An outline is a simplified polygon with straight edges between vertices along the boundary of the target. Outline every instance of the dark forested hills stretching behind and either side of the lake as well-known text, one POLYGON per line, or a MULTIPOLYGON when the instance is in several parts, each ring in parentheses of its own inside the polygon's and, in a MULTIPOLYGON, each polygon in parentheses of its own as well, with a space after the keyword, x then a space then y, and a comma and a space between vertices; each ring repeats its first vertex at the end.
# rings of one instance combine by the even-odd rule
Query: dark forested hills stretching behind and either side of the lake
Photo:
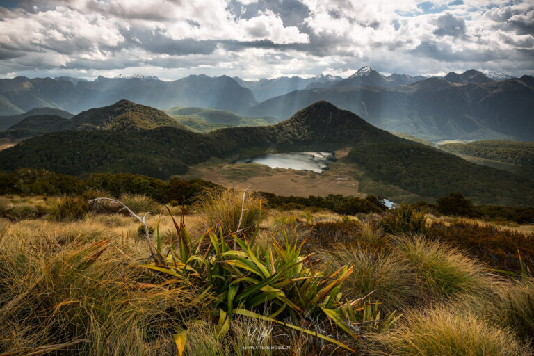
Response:
POLYGON ((72 175, 90 172, 133 172, 167 179, 212 157, 231 162, 265 152, 350 149, 347 164, 356 165, 360 179, 372 179, 412 193, 436 198, 462 191, 475 202, 534 204, 534 181, 503 170, 476 165, 442 150, 394 136, 350 111, 329 102, 316 102, 289 120, 261 127, 232 127, 195 133, 166 126, 161 111, 140 118, 129 130, 122 118, 149 108, 127 101, 95 108, 72 122, 87 120, 94 127, 29 138, 0 151, 0 169, 45 168, 72 175), (89 120, 88 118, 106 118, 89 120), (116 123, 115 123, 116 122, 116 123), (103 125, 102 123, 105 123, 103 125))

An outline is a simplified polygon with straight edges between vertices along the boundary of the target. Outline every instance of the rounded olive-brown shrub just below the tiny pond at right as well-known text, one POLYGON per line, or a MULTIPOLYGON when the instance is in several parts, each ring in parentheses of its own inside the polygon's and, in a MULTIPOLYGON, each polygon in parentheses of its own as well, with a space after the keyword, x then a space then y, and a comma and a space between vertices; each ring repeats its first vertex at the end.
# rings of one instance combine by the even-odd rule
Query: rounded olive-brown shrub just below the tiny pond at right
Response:
POLYGON ((380 225, 388 234, 424 234, 426 216, 409 205, 401 204, 401 207, 385 213, 380 225))

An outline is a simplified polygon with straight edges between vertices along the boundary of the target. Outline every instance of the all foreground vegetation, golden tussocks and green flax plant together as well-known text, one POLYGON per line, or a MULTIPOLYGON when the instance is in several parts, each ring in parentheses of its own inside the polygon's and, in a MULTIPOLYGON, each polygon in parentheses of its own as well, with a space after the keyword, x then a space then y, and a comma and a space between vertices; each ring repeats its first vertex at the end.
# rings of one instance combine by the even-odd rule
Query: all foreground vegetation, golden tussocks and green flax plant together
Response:
POLYGON ((115 193, 0 198, 0 355, 533 353, 534 235, 430 211, 458 195, 339 215, 115 193))

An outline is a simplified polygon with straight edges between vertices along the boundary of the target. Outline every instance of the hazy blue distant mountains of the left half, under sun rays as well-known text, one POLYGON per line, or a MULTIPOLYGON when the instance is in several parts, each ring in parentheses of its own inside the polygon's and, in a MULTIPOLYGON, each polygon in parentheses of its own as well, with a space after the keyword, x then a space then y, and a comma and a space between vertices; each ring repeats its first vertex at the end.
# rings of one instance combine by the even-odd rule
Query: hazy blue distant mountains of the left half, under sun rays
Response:
POLYGON ((257 104, 252 92, 229 76, 211 78, 188 76, 177 81, 161 81, 155 77, 104 78, 75 81, 70 78, 35 78, 17 76, 0 79, 0 113, 19 114, 32 108, 60 108, 80 113, 99 106, 108 106, 120 99, 156 108, 201 106, 243 112, 257 104), (5 97, 8 104, 1 99, 5 97))

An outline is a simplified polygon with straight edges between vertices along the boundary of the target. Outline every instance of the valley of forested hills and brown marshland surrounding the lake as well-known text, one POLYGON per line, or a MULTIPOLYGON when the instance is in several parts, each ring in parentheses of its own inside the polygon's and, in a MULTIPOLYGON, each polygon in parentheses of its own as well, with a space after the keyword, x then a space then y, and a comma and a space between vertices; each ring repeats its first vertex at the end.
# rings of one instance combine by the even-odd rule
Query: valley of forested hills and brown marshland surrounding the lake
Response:
POLYGON ((80 113, 61 125, 69 131, 35 136, 0 151, 0 169, 44 168, 70 175, 131 172, 160 179, 188 175, 302 195, 335 187, 340 193, 381 195, 396 202, 432 201, 451 191, 462 191, 477 203, 534 202, 533 179, 394 136, 324 101, 274 125, 208 133, 193 132, 162 111, 127 100, 80 113), (321 175, 315 173, 319 179, 296 170, 227 166, 264 154, 339 150, 348 154, 321 175), (220 164, 198 168, 211 159, 220 164), (334 181, 337 178, 348 181, 334 181))

